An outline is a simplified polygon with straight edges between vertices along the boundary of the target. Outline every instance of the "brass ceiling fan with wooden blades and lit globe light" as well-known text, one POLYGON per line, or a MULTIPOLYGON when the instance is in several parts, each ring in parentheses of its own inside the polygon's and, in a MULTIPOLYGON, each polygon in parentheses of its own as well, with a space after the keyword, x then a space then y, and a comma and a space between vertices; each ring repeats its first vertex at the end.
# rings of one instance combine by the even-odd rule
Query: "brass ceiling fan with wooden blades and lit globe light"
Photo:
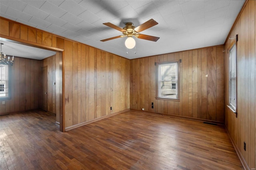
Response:
POLYGON ((153 42, 156 42, 159 39, 159 37, 148 36, 148 35, 145 35, 145 34, 138 34, 139 32, 142 32, 142 31, 144 31, 144 30, 146 30, 146 29, 148 29, 152 26, 157 25, 158 22, 156 22, 153 19, 150 19, 147 22, 144 22, 143 24, 141 24, 138 27, 135 27, 132 22, 127 22, 126 26, 124 28, 121 28, 119 26, 111 24, 110 22, 103 23, 103 24, 122 32, 122 34, 124 34, 124 35, 116 36, 116 37, 112 37, 112 38, 107 38, 107 39, 104 39, 104 40, 100 40, 101 42, 105 42, 105 41, 108 41, 108 40, 113 40, 113 39, 121 38, 121 37, 127 37, 127 39, 125 41, 125 45, 126 45, 127 48, 132 49, 135 46, 135 43, 136 43, 135 40, 133 39, 133 36, 136 37, 136 38, 149 40, 149 41, 153 41, 153 42))

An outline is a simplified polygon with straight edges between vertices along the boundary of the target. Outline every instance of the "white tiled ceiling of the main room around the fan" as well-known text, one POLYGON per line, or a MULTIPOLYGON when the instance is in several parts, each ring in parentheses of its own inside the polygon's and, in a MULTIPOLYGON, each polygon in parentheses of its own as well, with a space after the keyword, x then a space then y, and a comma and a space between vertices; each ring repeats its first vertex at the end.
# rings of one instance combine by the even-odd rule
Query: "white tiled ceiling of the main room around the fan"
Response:
POLYGON ((128 59, 224 44, 244 0, 0 0, 0 16, 69 38, 128 59), (128 49, 118 30, 153 18, 159 24, 128 49))

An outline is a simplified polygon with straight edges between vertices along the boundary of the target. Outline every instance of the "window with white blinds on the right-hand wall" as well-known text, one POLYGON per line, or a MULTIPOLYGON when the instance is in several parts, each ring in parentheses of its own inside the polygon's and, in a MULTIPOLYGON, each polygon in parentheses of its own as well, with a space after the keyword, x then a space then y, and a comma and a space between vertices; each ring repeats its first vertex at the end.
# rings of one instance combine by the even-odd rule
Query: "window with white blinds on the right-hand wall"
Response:
POLYGON ((236 113, 236 43, 229 51, 229 106, 236 113))

